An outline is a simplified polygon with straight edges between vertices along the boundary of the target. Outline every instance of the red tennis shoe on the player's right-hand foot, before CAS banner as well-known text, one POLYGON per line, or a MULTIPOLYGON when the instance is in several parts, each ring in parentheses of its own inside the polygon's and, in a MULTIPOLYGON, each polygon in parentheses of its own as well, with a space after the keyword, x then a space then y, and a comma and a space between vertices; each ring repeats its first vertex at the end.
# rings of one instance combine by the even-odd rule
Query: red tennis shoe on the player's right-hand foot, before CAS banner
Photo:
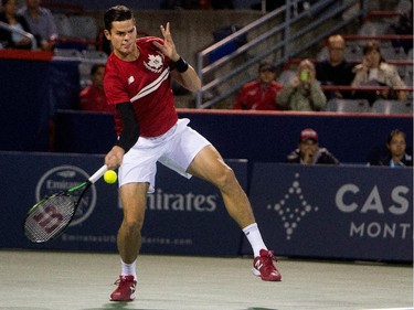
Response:
POLYGON ((280 281, 282 275, 273 265, 276 261, 276 256, 273 250, 261 249, 261 256, 255 257, 253 261, 253 275, 261 277, 264 281, 280 281))

